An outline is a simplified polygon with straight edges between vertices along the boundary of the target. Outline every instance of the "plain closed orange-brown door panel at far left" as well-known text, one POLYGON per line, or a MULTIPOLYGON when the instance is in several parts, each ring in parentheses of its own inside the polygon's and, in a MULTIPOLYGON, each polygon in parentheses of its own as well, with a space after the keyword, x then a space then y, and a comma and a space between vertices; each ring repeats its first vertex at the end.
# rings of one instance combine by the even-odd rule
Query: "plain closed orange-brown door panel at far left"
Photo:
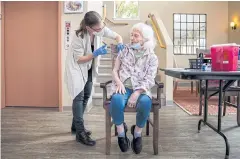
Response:
POLYGON ((6 106, 59 106, 58 2, 4 2, 6 106))

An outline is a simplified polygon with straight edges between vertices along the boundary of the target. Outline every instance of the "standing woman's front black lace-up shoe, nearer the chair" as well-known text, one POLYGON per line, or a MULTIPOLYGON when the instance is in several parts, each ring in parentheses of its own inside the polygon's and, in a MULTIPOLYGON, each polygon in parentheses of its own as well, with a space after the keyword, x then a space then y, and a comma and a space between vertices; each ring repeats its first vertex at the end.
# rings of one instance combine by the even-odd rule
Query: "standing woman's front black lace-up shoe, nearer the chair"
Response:
POLYGON ((80 143, 82 143, 84 145, 87 145, 87 146, 94 146, 94 145, 96 145, 96 141, 91 139, 90 136, 87 135, 87 133, 85 131, 76 133, 76 141, 80 142, 80 143))

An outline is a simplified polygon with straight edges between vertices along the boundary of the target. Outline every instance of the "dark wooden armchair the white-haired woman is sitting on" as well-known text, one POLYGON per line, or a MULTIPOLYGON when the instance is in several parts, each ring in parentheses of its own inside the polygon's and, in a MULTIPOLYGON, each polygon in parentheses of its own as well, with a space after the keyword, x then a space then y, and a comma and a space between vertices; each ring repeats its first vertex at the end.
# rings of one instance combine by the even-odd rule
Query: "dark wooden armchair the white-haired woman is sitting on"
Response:
MULTIPOLYGON (((111 84, 112 81, 108 81, 106 83, 101 83, 100 87, 103 89, 103 108, 105 109, 105 131, 106 131, 106 145, 105 145, 105 153, 106 155, 110 154, 111 149, 111 127, 113 122, 111 121, 111 116, 109 113, 109 105, 111 102, 111 97, 107 96, 107 85, 111 84)), ((163 83, 157 83, 157 98, 152 98, 152 109, 151 113, 153 113, 153 121, 149 117, 146 123, 146 135, 149 136, 149 123, 153 127, 153 150, 154 155, 158 154, 158 130, 159 130, 159 109, 161 108, 161 93, 163 92, 163 83)), ((135 108, 129 108, 126 106, 125 112, 136 112, 135 108)), ((116 126, 115 126, 115 136, 117 135, 116 126)))

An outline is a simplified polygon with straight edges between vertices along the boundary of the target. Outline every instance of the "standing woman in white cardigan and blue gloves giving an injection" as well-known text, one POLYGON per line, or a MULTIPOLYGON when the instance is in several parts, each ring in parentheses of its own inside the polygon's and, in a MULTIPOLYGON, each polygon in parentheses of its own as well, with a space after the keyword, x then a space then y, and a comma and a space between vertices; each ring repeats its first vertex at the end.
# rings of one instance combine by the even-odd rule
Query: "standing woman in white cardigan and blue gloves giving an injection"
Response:
POLYGON ((91 131, 84 127, 83 114, 92 91, 92 73, 95 73, 96 61, 99 55, 107 53, 106 45, 97 46, 101 37, 116 40, 118 51, 124 48, 122 37, 105 26, 101 16, 95 11, 85 14, 76 30, 65 63, 65 82, 72 103, 72 133, 76 133, 76 141, 88 146, 94 146, 91 131))

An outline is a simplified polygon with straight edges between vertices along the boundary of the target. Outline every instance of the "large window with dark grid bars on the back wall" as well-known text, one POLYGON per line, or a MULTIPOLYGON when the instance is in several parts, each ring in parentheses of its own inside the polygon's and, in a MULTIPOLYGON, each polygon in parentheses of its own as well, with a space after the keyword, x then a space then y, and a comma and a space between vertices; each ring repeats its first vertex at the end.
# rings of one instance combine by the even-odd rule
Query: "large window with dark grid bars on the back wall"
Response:
POLYGON ((196 54, 206 49, 207 15, 173 14, 174 54, 196 54))

